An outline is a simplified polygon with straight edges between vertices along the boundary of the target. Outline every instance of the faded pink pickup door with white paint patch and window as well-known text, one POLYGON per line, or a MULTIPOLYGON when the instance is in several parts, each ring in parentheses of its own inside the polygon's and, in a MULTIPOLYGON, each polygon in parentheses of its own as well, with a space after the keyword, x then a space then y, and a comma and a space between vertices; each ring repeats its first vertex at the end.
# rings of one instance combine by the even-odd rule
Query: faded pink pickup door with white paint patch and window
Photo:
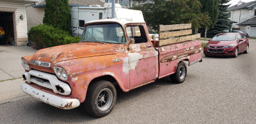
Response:
POLYGON ((129 45, 130 50, 127 52, 129 56, 130 89, 132 89, 156 79, 158 52, 149 41, 143 25, 127 26, 125 29, 129 40, 130 38, 134 39, 134 43, 129 45))

